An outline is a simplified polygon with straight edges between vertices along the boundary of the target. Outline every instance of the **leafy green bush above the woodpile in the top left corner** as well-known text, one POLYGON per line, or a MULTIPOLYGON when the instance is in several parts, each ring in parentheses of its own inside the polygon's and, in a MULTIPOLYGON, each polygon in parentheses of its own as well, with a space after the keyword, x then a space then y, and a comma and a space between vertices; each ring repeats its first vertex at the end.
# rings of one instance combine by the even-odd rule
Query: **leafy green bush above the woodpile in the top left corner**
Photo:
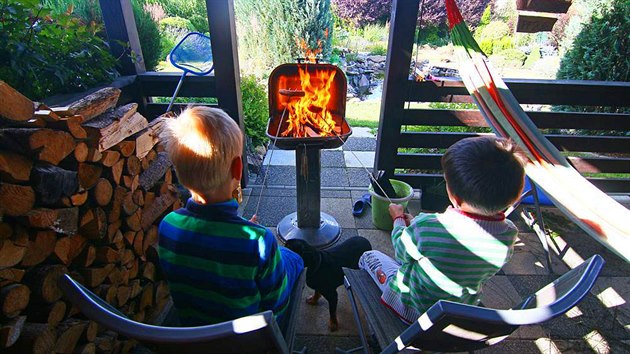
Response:
POLYGON ((68 13, 36 0, 0 2, 0 79, 39 100, 110 82, 116 60, 96 34, 68 13))

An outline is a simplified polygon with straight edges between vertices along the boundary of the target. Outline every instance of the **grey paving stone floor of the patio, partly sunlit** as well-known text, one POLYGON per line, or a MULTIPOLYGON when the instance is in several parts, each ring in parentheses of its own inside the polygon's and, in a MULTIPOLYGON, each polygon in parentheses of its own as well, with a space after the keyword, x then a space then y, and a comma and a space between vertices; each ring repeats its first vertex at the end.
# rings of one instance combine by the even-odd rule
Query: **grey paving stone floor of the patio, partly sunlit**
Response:
MULTIPOLYGON (((360 217, 351 212, 353 201, 367 192, 369 179, 361 163, 371 168, 375 147, 374 136, 359 128, 354 129, 342 148, 322 151, 321 210, 340 224, 341 240, 363 236, 374 249, 391 254, 389 233, 372 225, 370 210, 360 217)), ((242 212, 244 217, 251 217, 260 200, 258 220, 275 231, 278 222, 297 208, 295 153, 268 152, 264 165, 269 170, 266 186, 261 188, 262 174, 252 176, 242 212)), ((630 205, 628 196, 620 200, 630 205)), ((408 208, 412 214, 421 210, 418 192, 408 208)), ((520 235, 514 256, 485 285, 482 302, 486 306, 510 308, 595 253, 602 255, 607 263, 591 294, 569 314, 541 326, 520 328, 502 343, 481 352, 630 353, 630 265, 587 236, 557 209, 548 207, 544 209, 545 221, 555 232, 554 240, 562 251, 561 255, 553 252, 553 273, 549 274, 538 238, 517 214, 513 214, 513 219, 520 235)), ((305 345, 309 353, 333 353, 336 347, 349 349, 360 344, 345 290, 340 287, 337 292, 339 330, 331 333, 327 328, 328 305, 324 299, 316 306, 304 304, 296 347, 305 345)), ((311 293, 306 288, 303 300, 311 293)))

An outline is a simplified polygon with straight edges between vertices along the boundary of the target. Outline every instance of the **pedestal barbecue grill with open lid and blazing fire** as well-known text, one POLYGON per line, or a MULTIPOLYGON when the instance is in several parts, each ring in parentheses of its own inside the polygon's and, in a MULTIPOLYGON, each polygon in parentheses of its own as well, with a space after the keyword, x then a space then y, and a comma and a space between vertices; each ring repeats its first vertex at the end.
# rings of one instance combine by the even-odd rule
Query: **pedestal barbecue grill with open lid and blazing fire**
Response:
POLYGON ((278 224, 278 235, 285 242, 302 239, 326 248, 341 235, 335 218, 320 211, 320 151, 343 145, 352 134, 345 119, 346 91, 345 74, 330 64, 283 64, 269 76, 267 136, 277 148, 295 150, 296 158, 297 212, 278 224), (309 103, 321 102, 322 94, 330 95, 325 106, 309 103), (306 114, 300 115, 296 107, 306 114), (320 121, 326 120, 324 116, 328 123, 320 121))

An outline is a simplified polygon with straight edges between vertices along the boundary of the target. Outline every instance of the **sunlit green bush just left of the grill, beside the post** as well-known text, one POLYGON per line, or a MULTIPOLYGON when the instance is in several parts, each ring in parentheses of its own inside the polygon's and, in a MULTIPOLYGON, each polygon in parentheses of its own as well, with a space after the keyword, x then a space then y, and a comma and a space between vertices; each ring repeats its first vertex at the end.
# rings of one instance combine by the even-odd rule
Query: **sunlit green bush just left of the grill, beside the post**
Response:
POLYGON ((269 140, 265 134, 269 119, 269 103, 265 85, 259 83, 253 75, 243 76, 241 91, 245 133, 252 139, 254 146, 263 145, 269 140))

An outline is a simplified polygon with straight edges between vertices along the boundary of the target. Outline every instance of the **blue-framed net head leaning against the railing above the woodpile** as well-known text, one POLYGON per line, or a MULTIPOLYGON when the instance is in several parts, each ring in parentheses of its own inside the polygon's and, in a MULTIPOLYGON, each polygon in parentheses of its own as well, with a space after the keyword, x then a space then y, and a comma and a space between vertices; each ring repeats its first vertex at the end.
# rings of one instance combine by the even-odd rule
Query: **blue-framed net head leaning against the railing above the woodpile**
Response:
POLYGON ((210 37, 191 32, 171 50, 171 64, 176 68, 196 74, 207 75, 212 71, 212 47, 210 37))

